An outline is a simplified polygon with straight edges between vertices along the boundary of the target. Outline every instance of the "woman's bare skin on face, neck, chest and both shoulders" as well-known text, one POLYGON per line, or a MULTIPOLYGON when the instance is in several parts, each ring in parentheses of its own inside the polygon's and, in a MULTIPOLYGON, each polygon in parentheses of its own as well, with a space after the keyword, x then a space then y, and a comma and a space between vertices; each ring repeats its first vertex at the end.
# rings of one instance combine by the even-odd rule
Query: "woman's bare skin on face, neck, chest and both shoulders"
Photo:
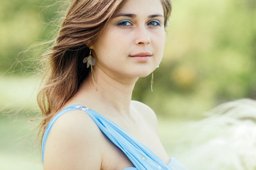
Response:
MULTIPOLYGON (((91 47, 96 59, 93 69, 97 91, 90 74, 64 108, 79 103, 97 111, 168 164, 169 156, 159 140, 154 111, 131 101, 137 79, 153 72, 161 62, 165 40, 161 1, 128 0, 117 15, 91 47), (123 16, 124 13, 132 17, 123 16), (131 57, 138 52, 151 55, 131 57)), ((124 153, 83 111, 70 111, 58 118, 46 142, 45 170, 122 170, 131 166, 124 153)))

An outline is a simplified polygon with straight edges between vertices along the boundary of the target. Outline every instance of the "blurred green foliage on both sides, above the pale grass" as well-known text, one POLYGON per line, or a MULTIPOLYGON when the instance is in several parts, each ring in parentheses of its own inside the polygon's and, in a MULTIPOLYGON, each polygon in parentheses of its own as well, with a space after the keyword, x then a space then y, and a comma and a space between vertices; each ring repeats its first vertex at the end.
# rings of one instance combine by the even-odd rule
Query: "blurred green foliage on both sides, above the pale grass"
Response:
MULTIPOLYGON (((54 37, 61 21, 56 18, 63 15, 57 11, 65 8, 61 3, 1 2, 0 73, 4 77, 35 71, 36 59, 45 50, 32 47, 20 52, 54 37)), ((154 92, 150 76, 140 79, 134 99, 163 116, 200 118, 203 111, 224 101, 255 98, 256 1, 173 0, 172 4, 164 60, 154 72, 154 92)))

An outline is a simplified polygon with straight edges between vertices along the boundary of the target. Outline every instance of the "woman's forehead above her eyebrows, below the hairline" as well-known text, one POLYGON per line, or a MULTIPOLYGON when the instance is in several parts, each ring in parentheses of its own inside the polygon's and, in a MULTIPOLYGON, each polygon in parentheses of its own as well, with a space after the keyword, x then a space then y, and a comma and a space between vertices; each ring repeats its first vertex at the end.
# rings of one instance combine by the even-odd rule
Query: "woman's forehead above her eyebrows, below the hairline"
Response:
POLYGON ((119 13, 149 14, 160 13, 164 15, 161 0, 127 0, 119 13))

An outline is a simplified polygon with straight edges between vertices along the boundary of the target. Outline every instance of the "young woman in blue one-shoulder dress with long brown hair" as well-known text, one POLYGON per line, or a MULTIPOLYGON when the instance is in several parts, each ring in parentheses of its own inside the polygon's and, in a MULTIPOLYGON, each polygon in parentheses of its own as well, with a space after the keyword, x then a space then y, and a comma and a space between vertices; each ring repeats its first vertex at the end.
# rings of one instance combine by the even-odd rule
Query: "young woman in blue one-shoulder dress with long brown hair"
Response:
POLYGON ((169 0, 71 1, 38 94, 43 169, 185 169, 131 101, 161 62, 170 12, 169 0))

